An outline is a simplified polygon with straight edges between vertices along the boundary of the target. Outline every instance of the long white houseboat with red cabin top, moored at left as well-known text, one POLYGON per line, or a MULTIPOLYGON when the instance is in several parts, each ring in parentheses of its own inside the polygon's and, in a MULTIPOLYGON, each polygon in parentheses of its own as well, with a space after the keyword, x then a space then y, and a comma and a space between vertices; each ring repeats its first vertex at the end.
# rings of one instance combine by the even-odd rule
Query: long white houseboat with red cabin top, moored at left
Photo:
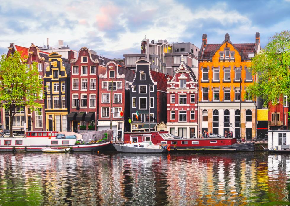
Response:
MULTIPOLYGON (((111 146, 110 140, 85 143, 82 135, 75 132, 29 131, 25 137, 1 137, 0 151, 41 151, 43 148, 70 148, 72 151, 104 151, 111 146)), ((91 141, 93 142, 93 141, 91 141)))

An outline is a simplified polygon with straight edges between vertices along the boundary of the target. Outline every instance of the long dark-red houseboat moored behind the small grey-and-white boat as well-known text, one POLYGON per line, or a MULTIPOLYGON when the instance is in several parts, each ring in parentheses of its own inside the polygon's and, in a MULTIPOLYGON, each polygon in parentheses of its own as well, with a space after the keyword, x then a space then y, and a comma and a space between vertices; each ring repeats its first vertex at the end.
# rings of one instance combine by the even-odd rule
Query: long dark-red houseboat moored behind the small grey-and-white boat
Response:
POLYGON ((125 132, 125 142, 151 141, 153 144, 168 144, 171 150, 192 151, 254 151, 254 143, 237 143, 233 138, 174 138, 168 131, 125 132))

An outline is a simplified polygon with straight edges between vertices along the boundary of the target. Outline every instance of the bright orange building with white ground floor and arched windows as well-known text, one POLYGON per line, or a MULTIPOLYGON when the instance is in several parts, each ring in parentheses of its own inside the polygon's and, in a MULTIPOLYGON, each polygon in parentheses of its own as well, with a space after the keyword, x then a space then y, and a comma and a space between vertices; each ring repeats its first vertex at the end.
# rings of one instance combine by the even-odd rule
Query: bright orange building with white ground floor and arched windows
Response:
POLYGON ((199 53, 199 135, 203 130, 220 135, 225 131, 232 131, 233 136, 256 135, 256 103, 247 93, 247 86, 256 80, 251 60, 259 51, 259 33, 255 43, 243 44, 233 44, 229 34, 221 44, 208 44, 203 34, 199 53))

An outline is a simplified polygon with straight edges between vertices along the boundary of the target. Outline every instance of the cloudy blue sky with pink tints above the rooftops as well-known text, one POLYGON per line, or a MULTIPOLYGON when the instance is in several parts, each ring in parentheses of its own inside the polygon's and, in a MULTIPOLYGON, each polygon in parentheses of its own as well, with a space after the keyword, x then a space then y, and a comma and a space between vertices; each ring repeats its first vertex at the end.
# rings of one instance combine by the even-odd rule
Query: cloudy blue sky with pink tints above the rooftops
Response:
POLYGON ((0 53, 10 42, 29 47, 86 46, 110 58, 140 53, 145 35, 150 40, 191 42, 200 47, 202 34, 208 43, 221 43, 225 33, 231 42, 261 45, 268 37, 290 30, 290 0, 175 1, 175 0, 11 0, 0 4, 0 53))

